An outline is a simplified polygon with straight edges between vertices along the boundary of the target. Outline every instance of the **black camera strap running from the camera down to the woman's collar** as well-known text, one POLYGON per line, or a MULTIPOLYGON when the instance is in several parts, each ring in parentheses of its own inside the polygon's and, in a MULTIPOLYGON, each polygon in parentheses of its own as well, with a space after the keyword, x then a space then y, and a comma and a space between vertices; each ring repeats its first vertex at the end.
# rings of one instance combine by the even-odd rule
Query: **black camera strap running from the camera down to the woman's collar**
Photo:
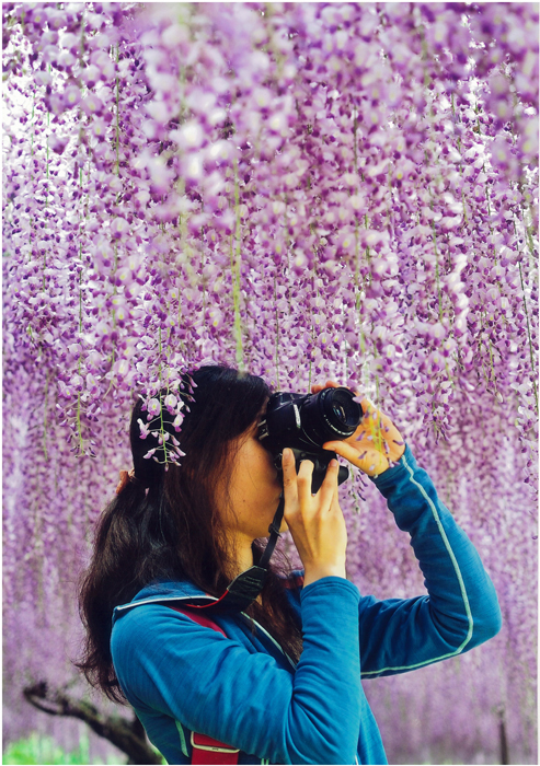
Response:
POLYGON ((258 565, 250 567, 235 577, 220 599, 212 601, 210 604, 192 604, 193 608, 214 610, 216 612, 229 610, 243 612, 243 610, 248 608, 248 606, 255 601, 263 590, 264 581, 268 572, 268 561, 276 547, 277 538, 280 537, 279 527, 282 526, 284 510, 285 498, 282 492, 274 519, 268 526, 269 539, 258 565))

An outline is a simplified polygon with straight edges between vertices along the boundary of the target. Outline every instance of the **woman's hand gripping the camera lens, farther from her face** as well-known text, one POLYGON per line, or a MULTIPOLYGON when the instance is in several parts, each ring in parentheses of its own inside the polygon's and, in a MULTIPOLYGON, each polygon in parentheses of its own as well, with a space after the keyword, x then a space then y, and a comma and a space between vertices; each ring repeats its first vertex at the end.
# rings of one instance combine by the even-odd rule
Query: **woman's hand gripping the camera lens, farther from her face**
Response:
MULTIPOLYGON (((323 388, 338 388, 335 381, 326 381, 325 385, 312 385, 311 393, 318 394, 323 388)), ((358 392, 355 392, 359 396, 358 392)), ((364 418, 348 439, 328 441, 324 450, 332 450, 349 463, 356 465, 368 476, 379 476, 390 467, 389 460, 397 463, 405 452, 405 440, 390 420, 369 402, 361 399, 364 418)))

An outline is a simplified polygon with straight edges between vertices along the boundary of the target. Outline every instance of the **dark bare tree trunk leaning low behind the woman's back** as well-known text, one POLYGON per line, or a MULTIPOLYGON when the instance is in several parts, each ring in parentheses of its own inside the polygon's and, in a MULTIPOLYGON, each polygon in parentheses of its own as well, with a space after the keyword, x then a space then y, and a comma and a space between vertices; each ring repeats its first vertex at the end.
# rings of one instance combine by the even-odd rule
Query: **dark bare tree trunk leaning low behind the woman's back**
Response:
POLYGON ((50 689, 41 681, 23 689, 25 699, 50 716, 70 716, 88 723, 100 736, 128 756, 128 764, 161 764, 162 758, 148 744, 145 729, 137 717, 126 721, 118 716, 104 716, 84 699, 73 699, 60 689, 50 689))

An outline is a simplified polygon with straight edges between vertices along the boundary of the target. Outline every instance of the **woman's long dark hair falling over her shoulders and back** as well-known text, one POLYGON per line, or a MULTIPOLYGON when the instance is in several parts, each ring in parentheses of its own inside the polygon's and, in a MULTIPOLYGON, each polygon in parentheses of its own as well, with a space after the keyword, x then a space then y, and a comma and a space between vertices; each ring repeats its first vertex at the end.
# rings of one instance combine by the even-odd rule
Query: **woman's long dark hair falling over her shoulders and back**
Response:
MULTIPOLYGON (((169 388, 161 390, 161 402, 168 393, 169 388)), ((161 414, 164 429, 179 439, 185 452, 181 466, 164 471, 163 464, 145 459, 153 443, 140 438, 138 421, 146 420, 146 413, 138 397, 130 425, 135 480, 127 481, 100 517, 92 559, 79 585, 87 636, 82 658, 74 664, 92 686, 120 704, 126 698, 110 650, 114 607, 131 601, 157 579, 189 580, 206 593, 220 596, 238 573, 216 507, 216 487, 220 477, 226 477, 226 483, 230 477, 235 440, 253 426, 272 392, 262 378, 211 365, 182 375, 181 387, 174 393, 185 402, 180 434, 165 407, 161 414)), ((254 541, 255 564, 265 545, 265 539, 254 541)), ((278 577, 289 571, 286 556, 276 552, 262 603, 254 602, 246 614, 298 660, 301 631, 278 577)))

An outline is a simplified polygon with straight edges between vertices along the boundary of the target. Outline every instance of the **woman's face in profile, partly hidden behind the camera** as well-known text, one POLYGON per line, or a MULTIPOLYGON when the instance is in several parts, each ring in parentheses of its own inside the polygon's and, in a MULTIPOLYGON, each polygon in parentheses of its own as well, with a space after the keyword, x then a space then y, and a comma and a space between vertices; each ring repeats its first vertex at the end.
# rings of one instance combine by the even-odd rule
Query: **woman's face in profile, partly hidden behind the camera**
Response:
MULTIPOLYGON (((228 531, 249 538, 250 543, 256 537, 268 536, 268 525, 274 519, 283 489, 272 455, 257 439, 257 422, 258 418, 249 431, 239 437, 229 483, 230 506, 225 512, 228 531)), ((227 508, 226 502, 219 506, 227 508)), ((287 523, 283 521, 280 531, 287 529, 287 523)))

